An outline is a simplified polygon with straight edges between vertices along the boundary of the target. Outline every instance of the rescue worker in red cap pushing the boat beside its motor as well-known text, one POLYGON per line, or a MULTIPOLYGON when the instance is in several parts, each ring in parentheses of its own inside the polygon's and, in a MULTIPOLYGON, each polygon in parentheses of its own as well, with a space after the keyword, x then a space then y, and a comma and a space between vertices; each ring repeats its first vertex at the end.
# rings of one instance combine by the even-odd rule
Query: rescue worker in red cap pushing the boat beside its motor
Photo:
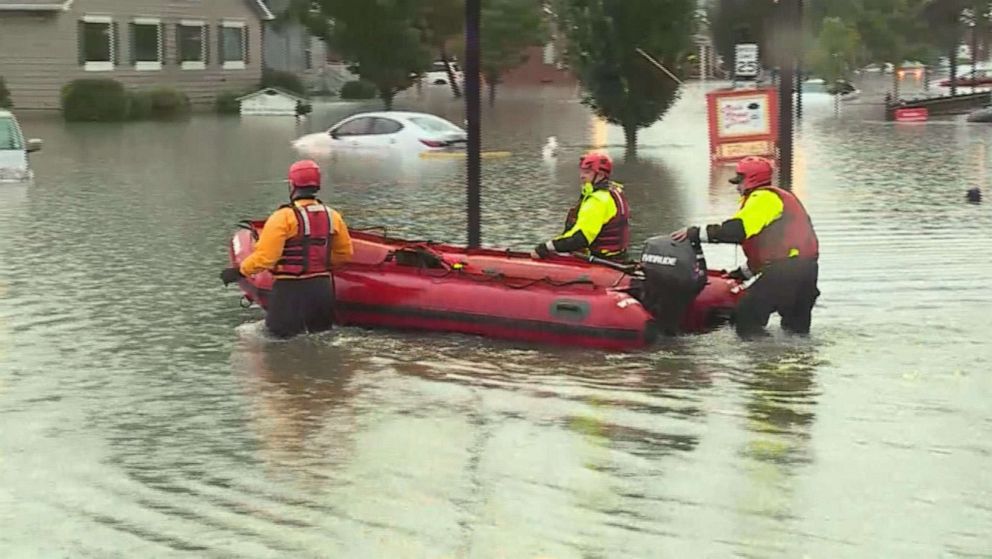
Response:
POLYGON ((820 295, 820 247, 813 223, 791 192, 771 186, 772 173, 768 159, 741 159, 737 175, 730 179, 741 195, 738 212, 722 224, 672 233, 675 240, 741 245, 747 263, 729 276, 742 281, 757 276, 734 312, 741 337, 763 333, 773 312, 782 317, 783 330, 809 333, 811 311, 820 295))

